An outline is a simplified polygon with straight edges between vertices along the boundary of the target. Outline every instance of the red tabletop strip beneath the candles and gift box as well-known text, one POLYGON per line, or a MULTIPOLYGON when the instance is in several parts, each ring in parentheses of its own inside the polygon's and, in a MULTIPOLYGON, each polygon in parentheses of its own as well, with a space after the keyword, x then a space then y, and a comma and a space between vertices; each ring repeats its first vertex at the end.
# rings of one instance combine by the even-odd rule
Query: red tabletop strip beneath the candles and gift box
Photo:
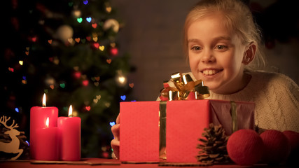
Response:
MULTIPOLYGON (((102 158, 86 158, 81 161, 76 162, 63 162, 63 161, 39 161, 39 160, 15 160, 15 161, 0 161, 1 168, 37 168, 37 167, 45 167, 45 168, 57 168, 57 167, 74 167, 74 168, 82 168, 82 167, 109 167, 109 168, 123 168, 123 167, 199 167, 199 163, 195 164, 186 164, 186 163, 167 163, 167 162, 156 162, 156 163, 146 163, 146 162, 120 162, 119 160, 114 159, 102 159, 102 158)), ((205 166, 205 167, 248 167, 248 166, 240 166, 240 165, 213 165, 213 166, 205 166)), ((267 165, 254 165, 252 167, 267 167, 267 165)), ((284 165, 276 166, 276 167, 286 167, 284 165)))

